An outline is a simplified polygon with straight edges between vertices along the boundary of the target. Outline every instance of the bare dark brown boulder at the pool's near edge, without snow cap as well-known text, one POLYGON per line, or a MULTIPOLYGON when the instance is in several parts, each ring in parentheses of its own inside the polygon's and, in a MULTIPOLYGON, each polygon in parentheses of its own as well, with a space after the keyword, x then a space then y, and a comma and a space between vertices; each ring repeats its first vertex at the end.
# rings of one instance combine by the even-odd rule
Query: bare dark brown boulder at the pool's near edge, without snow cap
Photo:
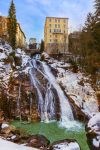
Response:
POLYGON ((48 147, 50 141, 43 135, 33 135, 28 139, 27 143, 27 146, 41 148, 41 150, 44 150, 44 148, 48 147))

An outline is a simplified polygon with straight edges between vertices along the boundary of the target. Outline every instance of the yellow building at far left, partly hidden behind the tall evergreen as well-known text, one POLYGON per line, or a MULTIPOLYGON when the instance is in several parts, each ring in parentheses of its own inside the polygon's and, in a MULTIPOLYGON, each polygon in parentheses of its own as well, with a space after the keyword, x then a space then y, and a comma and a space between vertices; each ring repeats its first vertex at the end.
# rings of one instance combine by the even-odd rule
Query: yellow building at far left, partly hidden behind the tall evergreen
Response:
MULTIPOLYGON (((5 40, 9 38, 7 31, 8 21, 7 17, 0 16, 0 37, 5 40)), ((21 48, 26 46, 26 37, 19 23, 17 23, 16 46, 21 48)))

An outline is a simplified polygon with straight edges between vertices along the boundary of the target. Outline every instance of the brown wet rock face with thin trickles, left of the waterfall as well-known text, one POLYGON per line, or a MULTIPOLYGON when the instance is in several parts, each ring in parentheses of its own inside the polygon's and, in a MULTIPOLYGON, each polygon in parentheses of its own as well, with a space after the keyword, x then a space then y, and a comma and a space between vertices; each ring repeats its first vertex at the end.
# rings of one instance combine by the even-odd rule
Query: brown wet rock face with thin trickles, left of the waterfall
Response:
POLYGON ((0 108, 5 117, 26 121, 38 121, 38 102, 34 87, 31 87, 29 77, 25 74, 13 78, 9 82, 8 91, 2 89, 0 108))

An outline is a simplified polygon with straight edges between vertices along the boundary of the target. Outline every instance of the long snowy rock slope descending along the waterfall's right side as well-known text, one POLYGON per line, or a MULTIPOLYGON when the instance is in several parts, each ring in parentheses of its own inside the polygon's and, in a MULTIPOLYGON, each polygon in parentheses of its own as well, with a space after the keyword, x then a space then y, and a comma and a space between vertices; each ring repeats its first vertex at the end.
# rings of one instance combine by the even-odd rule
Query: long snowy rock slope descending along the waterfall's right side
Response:
POLYGON ((87 82, 89 77, 81 72, 72 72, 68 63, 50 58, 46 53, 43 55, 49 65, 58 71, 57 82, 64 87, 66 94, 74 100, 75 104, 89 117, 98 112, 96 92, 87 82), (81 81, 83 85, 80 84, 81 81))

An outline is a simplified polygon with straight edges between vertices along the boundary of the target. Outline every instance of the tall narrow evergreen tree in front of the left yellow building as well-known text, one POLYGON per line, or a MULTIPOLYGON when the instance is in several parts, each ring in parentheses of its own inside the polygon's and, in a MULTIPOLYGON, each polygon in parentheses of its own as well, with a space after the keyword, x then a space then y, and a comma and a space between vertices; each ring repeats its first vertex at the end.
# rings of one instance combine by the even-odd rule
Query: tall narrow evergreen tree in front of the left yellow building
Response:
POLYGON ((8 38, 13 49, 16 48, 16 33, 17 33, 17 19, 16 9, 13 0, 8 13, 8 38))

